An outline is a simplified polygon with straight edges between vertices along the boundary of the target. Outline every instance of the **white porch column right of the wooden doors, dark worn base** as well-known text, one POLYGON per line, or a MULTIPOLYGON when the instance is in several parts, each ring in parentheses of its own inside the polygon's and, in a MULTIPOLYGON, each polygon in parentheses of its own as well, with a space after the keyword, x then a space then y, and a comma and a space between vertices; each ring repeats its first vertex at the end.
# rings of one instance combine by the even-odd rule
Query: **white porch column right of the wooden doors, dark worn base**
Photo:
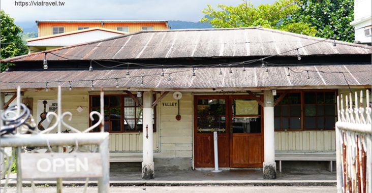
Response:
POLYGON ((264 90, 264 179, 276 178, 274 140, 274 96, 271 90, 264 90))

